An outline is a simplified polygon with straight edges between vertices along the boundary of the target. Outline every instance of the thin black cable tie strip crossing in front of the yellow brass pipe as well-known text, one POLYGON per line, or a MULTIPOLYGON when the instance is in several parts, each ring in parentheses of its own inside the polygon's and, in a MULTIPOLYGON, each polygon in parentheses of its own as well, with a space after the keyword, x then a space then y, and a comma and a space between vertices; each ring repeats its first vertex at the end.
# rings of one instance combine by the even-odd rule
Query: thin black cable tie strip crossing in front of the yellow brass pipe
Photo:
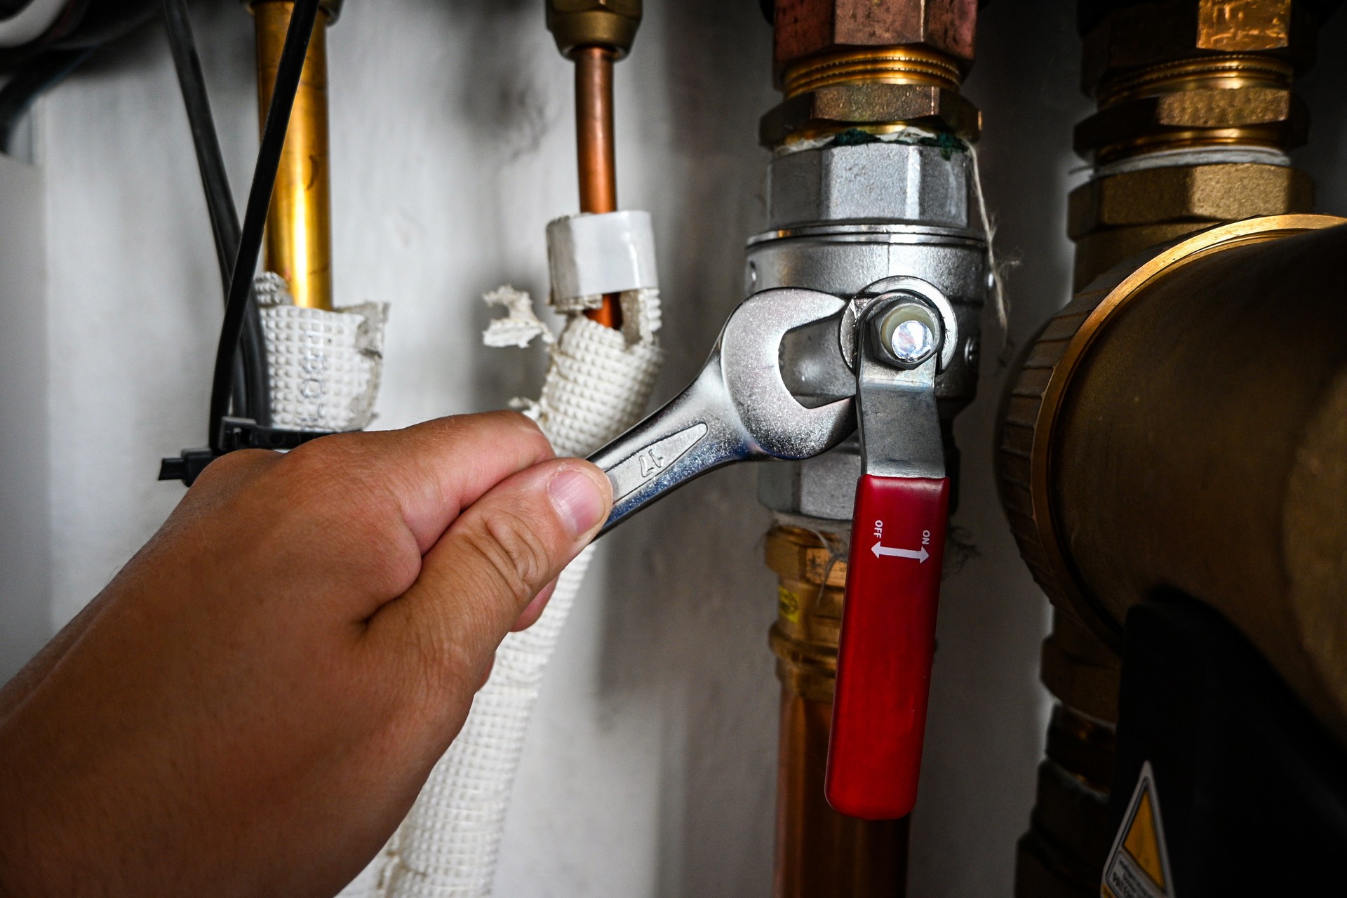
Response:
POLYGON ((257 256, 261 253, 267 210, 271 206, 271 194, 276 186, 276 172, 280 168, 280 151, 286 145, 290 113, 295 105, 295 94, 299 92, 299 77, 304 71, 308 40, 313 38, 314 23, 318 20, 318 4, 319 0, 295 0, 290 13, 290 28, 286 31, 286 46, 280 51, 280 65, 276 67, 276 86, 271 94, 267 124, 261 129, 261 148, 257 151, 257 167, 248 191, 248 207, 244 210, 238 252, 234 254, 234 267, 229 276, 225 323, 220 330, 216 376, 210 388, 210 432, 207 436, 210 448, 217 452, 222 450, 221 424, 229 412, 234 351, 238 349, 238 337, 247 318, 248 293, 252 288, 253 271, 257 268, 257 256))

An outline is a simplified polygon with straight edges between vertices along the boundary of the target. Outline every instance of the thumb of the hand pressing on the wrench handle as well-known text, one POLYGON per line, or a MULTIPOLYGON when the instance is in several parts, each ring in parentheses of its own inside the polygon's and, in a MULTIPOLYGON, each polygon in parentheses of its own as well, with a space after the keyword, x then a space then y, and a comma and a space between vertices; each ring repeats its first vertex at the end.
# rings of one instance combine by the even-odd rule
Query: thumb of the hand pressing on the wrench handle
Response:
POLYGON ((415 646, 427 685, 463 688, 466 700, 511 625, 594 539, 612 504, 607 475, 579 459, 502 481, 426 553, 412 587, 370 621, 370 635, 399 654, 415 646))

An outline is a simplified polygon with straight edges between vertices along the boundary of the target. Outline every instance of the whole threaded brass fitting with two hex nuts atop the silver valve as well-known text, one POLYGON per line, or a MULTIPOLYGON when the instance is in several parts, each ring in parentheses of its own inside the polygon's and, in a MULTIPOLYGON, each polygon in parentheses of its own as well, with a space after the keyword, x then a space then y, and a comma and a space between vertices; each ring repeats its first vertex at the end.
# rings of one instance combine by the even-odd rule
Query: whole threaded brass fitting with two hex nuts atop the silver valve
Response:
POLYGON ((762 145, 905 125, 977 140, 981 116, 959 94, 975 26, 975 0, 776 0, 785 101, 762 117, 762 145))

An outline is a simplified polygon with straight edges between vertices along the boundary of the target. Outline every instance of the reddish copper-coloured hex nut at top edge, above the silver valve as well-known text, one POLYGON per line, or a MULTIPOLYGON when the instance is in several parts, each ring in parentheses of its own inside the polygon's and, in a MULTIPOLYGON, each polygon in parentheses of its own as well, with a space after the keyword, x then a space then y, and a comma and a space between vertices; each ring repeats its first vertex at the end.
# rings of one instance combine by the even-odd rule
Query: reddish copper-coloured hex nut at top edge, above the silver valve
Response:
POLYGON ((849 47, 924 44, 973 65, 977 0, 776 0, 773 71, 849 47))

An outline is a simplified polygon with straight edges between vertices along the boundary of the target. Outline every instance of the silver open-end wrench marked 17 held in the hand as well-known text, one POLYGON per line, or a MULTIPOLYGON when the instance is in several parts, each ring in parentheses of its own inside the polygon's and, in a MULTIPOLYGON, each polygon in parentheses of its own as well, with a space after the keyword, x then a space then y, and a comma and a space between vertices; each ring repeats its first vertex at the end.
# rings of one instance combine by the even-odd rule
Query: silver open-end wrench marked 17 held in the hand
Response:
POLYGON ((804 459, 855 431, 850 399, 807 408, 781 377, 781 338, 845 303, 812 289, 768 289, 725 322, 702 373, 644 421, 594 452, 613 483, 606 533, 695 477, 757 459, 804 459))

